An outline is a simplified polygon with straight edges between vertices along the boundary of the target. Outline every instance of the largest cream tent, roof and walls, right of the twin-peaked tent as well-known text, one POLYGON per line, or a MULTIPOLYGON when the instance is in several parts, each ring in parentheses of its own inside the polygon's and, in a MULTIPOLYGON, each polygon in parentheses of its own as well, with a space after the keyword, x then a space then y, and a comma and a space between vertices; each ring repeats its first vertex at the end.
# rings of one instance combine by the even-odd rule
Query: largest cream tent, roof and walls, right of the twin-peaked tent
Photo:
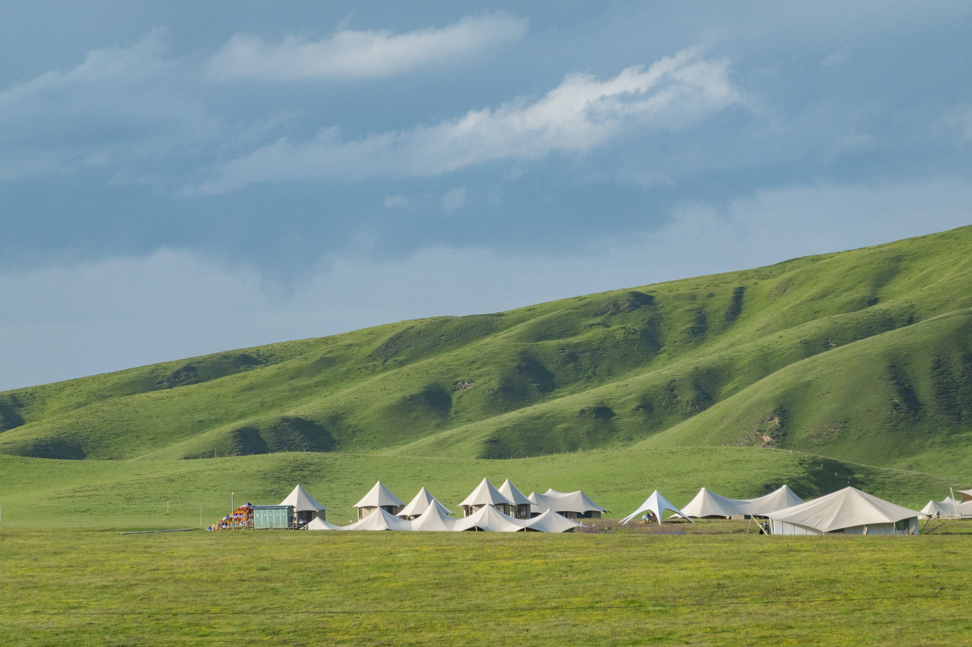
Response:
POLYGON ((918 534, 918 511, 851 487, 767 516, 773 534, 918 534))

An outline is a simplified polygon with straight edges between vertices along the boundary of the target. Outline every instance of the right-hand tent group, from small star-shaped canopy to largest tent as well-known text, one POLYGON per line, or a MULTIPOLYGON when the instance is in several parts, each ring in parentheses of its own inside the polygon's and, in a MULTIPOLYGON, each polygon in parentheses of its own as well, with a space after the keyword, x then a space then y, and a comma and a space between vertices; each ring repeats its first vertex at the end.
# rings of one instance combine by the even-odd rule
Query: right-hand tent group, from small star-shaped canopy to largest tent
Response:
MULTIPOLYGON (((972 498, 972 496, 970 496, 972 498)), ((856 488, 844 488, 811 501, 803 501, 787 486, 756 498, 728 498, 703 488, 680 510, 657 490, 622 524, 638 515, 662 513, 688 519, 706 517, 762 517, 773 534, 917 534, 920 513, 856 488)))

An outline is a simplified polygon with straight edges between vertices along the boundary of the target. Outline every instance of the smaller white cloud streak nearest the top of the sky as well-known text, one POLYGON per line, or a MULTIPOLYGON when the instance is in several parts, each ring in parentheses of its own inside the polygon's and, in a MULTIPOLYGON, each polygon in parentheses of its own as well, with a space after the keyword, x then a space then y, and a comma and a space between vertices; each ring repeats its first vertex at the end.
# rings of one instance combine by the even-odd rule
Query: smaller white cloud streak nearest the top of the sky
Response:
POLYGON ((237 34, 213 54, 206 68, 220 81, 378 78, 512 43, 526 30, 525 19, 494 14, 406 34, 343 29, 322 41, 288 36, 276 45, 237 34))

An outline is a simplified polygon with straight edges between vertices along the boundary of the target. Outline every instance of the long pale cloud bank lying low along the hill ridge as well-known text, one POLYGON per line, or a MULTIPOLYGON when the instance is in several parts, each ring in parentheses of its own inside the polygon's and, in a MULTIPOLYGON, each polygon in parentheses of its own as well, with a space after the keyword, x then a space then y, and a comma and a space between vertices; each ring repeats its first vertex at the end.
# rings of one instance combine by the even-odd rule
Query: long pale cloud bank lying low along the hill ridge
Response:
POLYGON ((766 265, 972 222, 972 184, 794 187, 569 257, 426 248, 322 259, 293 289, 190 252, 0 275, 0 391, 175 358, 434 315, 495 312, 577 294, 766 265), (452 271, 443 272, 443 267, 452 271))

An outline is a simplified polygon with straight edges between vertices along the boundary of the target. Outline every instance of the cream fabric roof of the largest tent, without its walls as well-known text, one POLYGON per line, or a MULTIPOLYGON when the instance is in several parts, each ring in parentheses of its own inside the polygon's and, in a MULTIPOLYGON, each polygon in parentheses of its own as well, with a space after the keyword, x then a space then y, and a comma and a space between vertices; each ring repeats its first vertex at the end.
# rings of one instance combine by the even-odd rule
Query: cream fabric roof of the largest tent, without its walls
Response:
POLYGON ((847 487, 812 501, 767 513, 773 521, 829 532, 853 526, 893 524, 918 517, 916 510, 847 487))

